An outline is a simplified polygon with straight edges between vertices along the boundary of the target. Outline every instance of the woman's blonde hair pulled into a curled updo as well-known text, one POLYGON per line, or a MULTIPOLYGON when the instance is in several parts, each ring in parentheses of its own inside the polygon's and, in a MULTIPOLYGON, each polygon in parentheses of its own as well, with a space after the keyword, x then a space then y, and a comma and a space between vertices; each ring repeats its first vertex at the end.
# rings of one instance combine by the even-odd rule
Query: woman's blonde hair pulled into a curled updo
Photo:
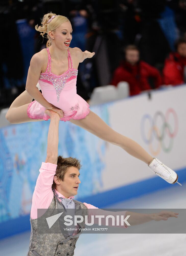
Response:
POLYGON ((48 35, 48 32, 49 32, 49 31, 54 31, 54 32, 55 32, 56 28, 58 28, 62 23, 67 22, 67 21, 70 22, 70 20, 69 20, 67 17, 62 16, 62 15, 57 15, 57 16, 54 17, 49 23, 47 23, 47 21, 48 21, 52 16, 54 16, 54 15, 56 15, 56 14, 55 14, 55 13, 52 13, 52 12, 45 14, 45 15, 43 16, 43 18, 41 19, 41 24, 42 24, 42 25, 41 25, 41 26, 38 26, 38 25, 35 26, 35 29, 36 29, 37 31, 41 32, 40 35, 41 35, 43 38, 44 38, 44 37, 45 37, 45 38, 48 38, 48 41, 47 41, 47 43, 46 43, 46 47, 49 47, 49 46, 51 46, 51 44, 52 44, 52 41, 51 41, 50 36, 48 35), (47 36, 45 36, 45 34, 47 34, 47 36))

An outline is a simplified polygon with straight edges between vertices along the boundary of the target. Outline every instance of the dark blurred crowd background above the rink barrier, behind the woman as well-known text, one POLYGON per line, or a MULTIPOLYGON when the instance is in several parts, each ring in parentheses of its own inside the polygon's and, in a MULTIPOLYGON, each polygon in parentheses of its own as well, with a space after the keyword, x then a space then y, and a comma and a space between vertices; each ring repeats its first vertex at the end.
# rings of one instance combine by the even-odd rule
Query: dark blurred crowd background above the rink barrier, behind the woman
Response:
POLYGON ((85 100, 95 87, 120 81, 130 95, 186 82, 186 0, 1 0, 0 108, 25 89, 23 49, 32 49, 30 62, 46 47, 34 27, 48 12, 70 19, 70 47, 96 53, 78 68, 77 93, 85 100), (32 29, 31 45, 20 37, 21 20, 32 29))

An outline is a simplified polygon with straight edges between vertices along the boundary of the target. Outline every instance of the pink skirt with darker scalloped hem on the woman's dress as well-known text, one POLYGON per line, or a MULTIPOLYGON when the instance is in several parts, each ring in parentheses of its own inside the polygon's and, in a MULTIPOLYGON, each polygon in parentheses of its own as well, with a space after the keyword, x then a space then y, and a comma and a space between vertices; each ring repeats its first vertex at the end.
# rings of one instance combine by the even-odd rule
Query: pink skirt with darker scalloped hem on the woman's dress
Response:
MULTIPOLYGON (((76 111, 70 111, 72 114, 66 115, 64 112, 64 117, 61 118, 61 121, 69 121, 70 119, 74 119, 74 120, 79 120, 79 119, 83 119, 85 118, 89 112, 90 112, 90 106, 89 104, 83 99, 81 98, 78 94, 78 106, 79 109, 76 111)), ((45 121, 47 121, 48 119, 50 119, 50 116, 45 114, 45 110, 46 108, 44 106, 42 106, 39 102, 37 101, 32 101, 27 108, 27 115, 29 118, 31 119, 43 119, 45 121)))

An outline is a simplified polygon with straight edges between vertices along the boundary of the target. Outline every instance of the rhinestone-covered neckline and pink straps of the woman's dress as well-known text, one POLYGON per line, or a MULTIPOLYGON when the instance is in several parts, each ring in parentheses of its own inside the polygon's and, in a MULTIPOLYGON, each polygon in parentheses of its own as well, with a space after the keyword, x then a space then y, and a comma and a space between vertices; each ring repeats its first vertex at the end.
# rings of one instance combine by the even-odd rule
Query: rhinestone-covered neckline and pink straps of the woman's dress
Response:
POLYGON ((59 97, 60 97, 61 91, 65 86, 65 83, 67 82, 68 79, 77 77, 78 70, 73 68, 72 58, 68 50, 68 70, 65 73, 61 74, 60 76, 52 73, 51 72, 51 56, 48 48, 47 48, 47 51, 48 51, 48 65, 47 65, 46 71, 44 73, 41 73, 40 79, 46 80, 53 84, 56 90, 57 102, 59 102, 59 97), (71 63, 71 68, 70 68, 70 63, 71 63), (49 71, 47 71, 48 67, 49 67, 49 71))

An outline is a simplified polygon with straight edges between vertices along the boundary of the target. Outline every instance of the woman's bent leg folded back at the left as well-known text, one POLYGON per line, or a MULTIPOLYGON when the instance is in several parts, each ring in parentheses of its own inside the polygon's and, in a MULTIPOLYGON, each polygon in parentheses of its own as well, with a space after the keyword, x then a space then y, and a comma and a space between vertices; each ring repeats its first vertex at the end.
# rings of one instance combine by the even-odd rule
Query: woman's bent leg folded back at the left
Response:
POLYGON ((33 98, 27 91, 22 92, 11 104, 6 119, 12 124, 20 124, 25 122, 43 121, 43 119, 31 119, 27 115, 27 108, 33 98))

